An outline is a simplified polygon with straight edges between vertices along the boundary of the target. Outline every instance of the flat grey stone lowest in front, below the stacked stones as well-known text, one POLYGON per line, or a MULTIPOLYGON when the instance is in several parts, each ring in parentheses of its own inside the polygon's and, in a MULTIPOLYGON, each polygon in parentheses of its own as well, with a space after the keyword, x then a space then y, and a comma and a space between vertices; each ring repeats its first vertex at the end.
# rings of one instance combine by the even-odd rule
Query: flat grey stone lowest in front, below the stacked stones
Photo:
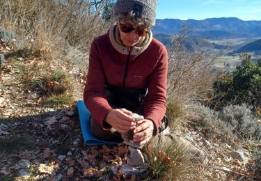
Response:
POLYGON ((142 175, 148 170, 148 164, 142 164, 140 166, 131 166, 129 164, 120 166, 120 173, 125 175, 142 175))

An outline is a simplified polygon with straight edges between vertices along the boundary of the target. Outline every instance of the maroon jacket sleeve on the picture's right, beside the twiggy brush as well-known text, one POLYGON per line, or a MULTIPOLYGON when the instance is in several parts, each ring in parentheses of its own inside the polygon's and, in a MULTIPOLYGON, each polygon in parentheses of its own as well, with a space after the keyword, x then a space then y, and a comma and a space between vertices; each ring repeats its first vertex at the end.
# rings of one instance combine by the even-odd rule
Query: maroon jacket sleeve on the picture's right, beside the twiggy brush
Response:
POLYGON ((149 77, 148 95, 144 105, 144 117, 155 123, 157 131, 166 113, 168 54, 164 45, 161 45, 158 58, 157 65, 149 77))

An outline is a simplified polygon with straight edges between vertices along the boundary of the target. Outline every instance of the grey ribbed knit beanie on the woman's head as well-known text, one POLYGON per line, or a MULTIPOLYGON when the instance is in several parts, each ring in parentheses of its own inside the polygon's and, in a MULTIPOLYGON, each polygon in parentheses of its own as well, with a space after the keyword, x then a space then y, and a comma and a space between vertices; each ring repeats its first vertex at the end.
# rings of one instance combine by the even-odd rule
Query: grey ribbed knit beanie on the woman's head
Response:
POLYGON ((144 15, 155 24, 156 6, 157 0, 118 0, 114 6, 114 15, 133 11, 137 16, 144 15))

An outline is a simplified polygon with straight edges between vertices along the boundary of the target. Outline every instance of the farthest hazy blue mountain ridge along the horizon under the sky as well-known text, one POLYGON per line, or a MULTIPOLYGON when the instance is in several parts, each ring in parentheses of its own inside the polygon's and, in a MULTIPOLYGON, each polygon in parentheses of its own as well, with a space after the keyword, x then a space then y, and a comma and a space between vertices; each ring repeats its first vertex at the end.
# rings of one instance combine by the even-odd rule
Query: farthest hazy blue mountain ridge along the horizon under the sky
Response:
POLYGON ((243 21, 236 17, 208 18, 203 20, 156 19, 154 34, 173 35, 189 26, 190 36, 201 38, 254 38, 261 37, 261 21, 243 21))

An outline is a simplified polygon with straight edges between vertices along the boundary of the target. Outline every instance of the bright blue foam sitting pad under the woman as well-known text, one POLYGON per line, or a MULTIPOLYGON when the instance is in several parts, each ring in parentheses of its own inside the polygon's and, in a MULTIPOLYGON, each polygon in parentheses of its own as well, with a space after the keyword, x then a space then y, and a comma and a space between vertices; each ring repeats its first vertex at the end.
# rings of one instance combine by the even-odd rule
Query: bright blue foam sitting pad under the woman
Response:
POLYGON ((81 123, 81 133, 84 137, 84 143, 86 145, 104 145, 104 144, 117 144, 120 142, 104 141, 97 139, 93 134, 90 133, 90 111, 86 108, 84 101, 77 101, 77 107, 79 112, 79 118, 81 123))

